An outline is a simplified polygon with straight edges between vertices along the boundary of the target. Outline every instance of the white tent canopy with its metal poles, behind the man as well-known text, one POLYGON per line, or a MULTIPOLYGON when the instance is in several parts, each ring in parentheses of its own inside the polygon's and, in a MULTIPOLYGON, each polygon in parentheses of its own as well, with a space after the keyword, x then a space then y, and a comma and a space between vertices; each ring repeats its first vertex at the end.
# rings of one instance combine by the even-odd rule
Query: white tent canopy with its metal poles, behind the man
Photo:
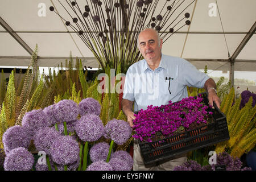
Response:
MULTIPOLYGON (((159 9, 165 2, 159 1, 159 9)), ((84 65, 98 68, 93 53, 79 36, 49 11, 52 3, 60 14, 65 14, 57 0, 0 0, 0 67, 27 66, 31 52, 38 44, 39 67, 57 67, 61 62, 65 63, 72 52, 72 56, 82 59, 84 65), (44 5, 46 14, 39 16, 44 5)), ((77 3, 84 6, 86 1, 77 3)), ((193 12, 193 17, 189 18, 191 26, 185 26, 172 35, 164 43, 162 52, 187 59, 198 69, 207 65, 208 69, 230 73, 255 72, 255 7, 255 0, 197 0, 186 10, 193 12), (217 11, 216 16, 210 16, 209 13, 216 10, 216 2, 220 15, 217 11), (233 67, 228 50, 234 60, 233 67)))

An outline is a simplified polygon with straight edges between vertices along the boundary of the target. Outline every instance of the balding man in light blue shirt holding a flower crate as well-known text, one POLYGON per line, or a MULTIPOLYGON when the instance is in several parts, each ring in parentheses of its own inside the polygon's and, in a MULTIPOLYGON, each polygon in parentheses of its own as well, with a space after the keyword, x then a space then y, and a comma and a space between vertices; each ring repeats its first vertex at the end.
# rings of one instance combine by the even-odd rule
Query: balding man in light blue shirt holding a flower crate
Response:
MULTIPOLYGON (((215 102, 220 107, 216 84, 212 78, 184 59, 163 55, 162 44, 158 32, 151 28, 141 31, 138 36, 138 48, 144 59, 128 69, 121 102, 131 127, 135 119, 134 111, 147 109, 148 105, 166 105, 170 100, 180 101, 188 97, 187 86, 204 88, 208 92, 209 104, 215 102)), ((134 140, 134 170, 172 170, 186 160, 186 156, 181 155, 145 166, 138 142, 134 140)))

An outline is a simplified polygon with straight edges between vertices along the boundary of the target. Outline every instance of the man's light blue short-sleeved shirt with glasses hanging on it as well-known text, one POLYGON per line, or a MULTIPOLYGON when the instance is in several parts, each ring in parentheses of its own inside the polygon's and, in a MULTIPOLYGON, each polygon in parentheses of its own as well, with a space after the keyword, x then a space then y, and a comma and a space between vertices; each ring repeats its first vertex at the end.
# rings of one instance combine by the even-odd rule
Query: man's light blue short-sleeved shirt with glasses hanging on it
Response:
POLYGON ((159 67, 154 71, 144 59, 129 67, 123 98, 135 101, 134 111, 144 110, 148 105, 161 106, 168 104, 168 101, 180 101, 188 97, 187 86, 203 88, 208 79, 209 76, 187 60, 162 54, 159 67))

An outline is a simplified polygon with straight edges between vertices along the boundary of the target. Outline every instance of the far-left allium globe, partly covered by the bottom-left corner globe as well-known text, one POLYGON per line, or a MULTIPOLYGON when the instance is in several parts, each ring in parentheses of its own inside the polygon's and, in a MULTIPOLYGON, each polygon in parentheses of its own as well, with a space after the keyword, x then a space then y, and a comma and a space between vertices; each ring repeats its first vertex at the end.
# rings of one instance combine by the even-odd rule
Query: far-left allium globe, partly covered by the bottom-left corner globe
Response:
POLYGON ((14 148, 24 147, 27 148, 31 142, 31 135, 26 127, 23 126, 12 126, 9 127, 3 134, 3 147, 5 148, 6 154, 14 148))

